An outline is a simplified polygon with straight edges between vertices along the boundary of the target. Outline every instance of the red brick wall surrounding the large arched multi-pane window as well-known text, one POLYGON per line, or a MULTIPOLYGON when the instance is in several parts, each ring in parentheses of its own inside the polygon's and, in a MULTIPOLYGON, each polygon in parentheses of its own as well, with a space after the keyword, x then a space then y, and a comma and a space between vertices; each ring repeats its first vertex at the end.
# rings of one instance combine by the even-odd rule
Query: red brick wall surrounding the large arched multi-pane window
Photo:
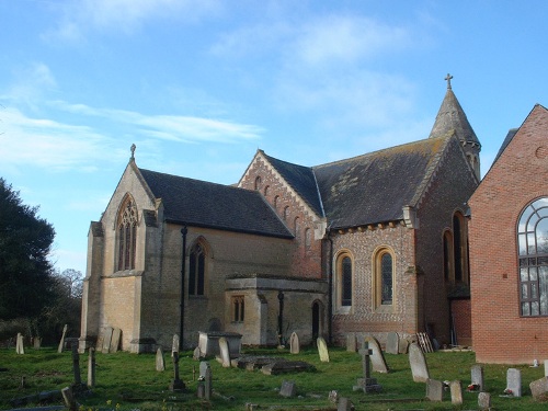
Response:
POLYGON ((548 318, 520 316, 516 221, 548 196, 548 111, 535 106, 470 198, 472 335, 479 363, 548 358, 548 318))

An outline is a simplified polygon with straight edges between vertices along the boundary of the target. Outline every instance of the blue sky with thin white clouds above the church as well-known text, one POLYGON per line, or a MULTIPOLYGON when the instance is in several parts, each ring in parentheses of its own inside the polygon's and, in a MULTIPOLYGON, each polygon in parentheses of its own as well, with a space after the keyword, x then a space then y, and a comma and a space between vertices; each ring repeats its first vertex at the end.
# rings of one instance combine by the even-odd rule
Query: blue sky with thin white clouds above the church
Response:
POLYGON ((315 165, 426 138, 445 76, 489 169, 548 105, 548 2, 0 0, 0 176, 59 270, 130 156, 237 182, 258 148, 315 165))

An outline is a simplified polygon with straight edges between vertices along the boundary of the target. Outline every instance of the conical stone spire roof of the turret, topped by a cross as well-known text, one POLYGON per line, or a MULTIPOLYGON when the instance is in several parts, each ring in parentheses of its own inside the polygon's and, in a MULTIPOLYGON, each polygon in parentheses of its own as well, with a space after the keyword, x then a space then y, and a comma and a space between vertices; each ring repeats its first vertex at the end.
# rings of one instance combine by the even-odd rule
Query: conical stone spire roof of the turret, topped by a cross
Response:
POLYGON ((447 84, 447 92, 437 112, 432 132, 430 132, 430 138, 446 136, 448 134, 455 134, 461 142, 481 147, 472 126, 470 126, 466 117, 465 111, 450 88, 450 82, 447 84))

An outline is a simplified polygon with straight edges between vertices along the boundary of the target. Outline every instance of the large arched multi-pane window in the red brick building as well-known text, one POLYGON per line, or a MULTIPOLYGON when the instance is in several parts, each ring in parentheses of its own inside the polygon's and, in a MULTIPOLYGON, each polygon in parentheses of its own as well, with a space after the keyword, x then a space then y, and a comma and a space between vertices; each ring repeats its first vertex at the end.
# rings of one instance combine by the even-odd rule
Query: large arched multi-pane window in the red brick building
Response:
POLYGON ((522 316, 548 316, 548 197, 530 203, 517 225, 522 316))

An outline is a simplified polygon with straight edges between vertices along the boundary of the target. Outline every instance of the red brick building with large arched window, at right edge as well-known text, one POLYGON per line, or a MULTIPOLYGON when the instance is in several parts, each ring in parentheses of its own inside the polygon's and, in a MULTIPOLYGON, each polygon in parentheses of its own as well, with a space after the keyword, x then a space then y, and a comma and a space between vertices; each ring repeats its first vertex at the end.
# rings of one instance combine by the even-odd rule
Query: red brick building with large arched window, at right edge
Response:
POLYGON ((506 136, 469 201, 471 319, 480 363, 548 358, 548 111, 506 136))

